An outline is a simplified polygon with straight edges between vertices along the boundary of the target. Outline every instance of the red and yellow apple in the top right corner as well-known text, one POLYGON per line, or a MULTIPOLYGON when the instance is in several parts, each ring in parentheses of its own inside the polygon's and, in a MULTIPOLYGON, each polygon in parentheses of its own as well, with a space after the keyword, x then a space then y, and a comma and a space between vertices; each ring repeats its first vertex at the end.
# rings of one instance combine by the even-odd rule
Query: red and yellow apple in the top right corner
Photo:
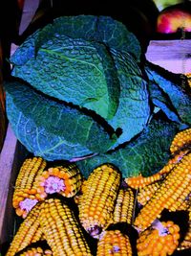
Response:
POLYGON ((179 31, 191 32, 191 12, 179 8, 166 9, 159 12, 157 32, 172 34, 179 31))

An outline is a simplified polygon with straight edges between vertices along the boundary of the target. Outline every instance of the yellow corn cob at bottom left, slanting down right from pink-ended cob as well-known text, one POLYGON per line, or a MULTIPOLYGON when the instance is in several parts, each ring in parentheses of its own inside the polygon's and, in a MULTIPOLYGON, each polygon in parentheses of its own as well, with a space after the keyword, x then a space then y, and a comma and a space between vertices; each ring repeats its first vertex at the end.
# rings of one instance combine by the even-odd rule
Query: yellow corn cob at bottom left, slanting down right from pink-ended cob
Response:
POLYGON ((39 221, 53 255, 92 255, 73 211, 60 199, 49 198, 41 203, 39 221))

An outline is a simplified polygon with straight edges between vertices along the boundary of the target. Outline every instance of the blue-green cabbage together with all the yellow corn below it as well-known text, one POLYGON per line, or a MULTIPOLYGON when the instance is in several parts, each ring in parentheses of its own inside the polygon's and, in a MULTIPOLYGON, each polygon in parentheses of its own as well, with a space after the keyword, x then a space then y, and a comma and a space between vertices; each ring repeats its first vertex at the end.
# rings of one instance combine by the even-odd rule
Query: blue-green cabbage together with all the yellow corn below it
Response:
POLYGON ((190 86, 140 49, 117 20, 78 15, 56 18, 11 57, 7 114, 29 157, 12 198, 24 220, 6 256, 190 248, 190 86), (184 233, 170 215, 180 212, 184 233))

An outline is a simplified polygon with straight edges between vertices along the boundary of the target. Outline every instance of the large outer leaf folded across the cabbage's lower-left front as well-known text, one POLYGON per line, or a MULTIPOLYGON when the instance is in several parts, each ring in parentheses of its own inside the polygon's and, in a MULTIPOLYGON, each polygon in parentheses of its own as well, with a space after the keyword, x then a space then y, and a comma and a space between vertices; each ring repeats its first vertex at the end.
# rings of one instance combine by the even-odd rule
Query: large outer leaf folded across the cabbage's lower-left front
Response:
POLYGON ((53 101, 21 81, 7 82, 5 88, 11 127, 35 155, 70 160, 108 151, 116 142, 112 128, 106 130, 80 109, 53 101))

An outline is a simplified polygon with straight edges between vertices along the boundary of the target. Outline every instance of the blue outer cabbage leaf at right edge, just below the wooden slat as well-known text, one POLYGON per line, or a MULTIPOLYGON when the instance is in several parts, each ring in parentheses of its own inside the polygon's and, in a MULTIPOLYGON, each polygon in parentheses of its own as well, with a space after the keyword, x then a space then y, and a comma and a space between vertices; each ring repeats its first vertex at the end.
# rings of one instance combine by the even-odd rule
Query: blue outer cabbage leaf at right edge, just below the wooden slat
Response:
POLYGON ((171 73, 147 62, 145 71, 150 81, 159 85, 159 88, 167 95, 170 105, 173 105, 182 123, 191 125, 191 91, 184 89, 184 84, 172 81, 171 73))

